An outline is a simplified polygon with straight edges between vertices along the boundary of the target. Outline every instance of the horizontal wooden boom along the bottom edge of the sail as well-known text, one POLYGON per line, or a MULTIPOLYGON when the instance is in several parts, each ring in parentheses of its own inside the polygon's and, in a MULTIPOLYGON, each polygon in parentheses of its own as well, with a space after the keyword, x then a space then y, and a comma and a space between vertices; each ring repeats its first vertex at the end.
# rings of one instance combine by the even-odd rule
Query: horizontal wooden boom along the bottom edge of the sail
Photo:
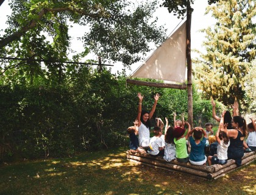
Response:
POLYGON ((149 87, 174 88, 174 89, 180 89, 180 90, 187 89, 187 85, 185 84, 179 85, 179 84, 171 84, 171 83, 155 83, 155 82, 146 82, 142 80, 132 80, 132 79, 126 79, 126 82, 134 85, 143 85, 143 86, 149 86, 149 87))

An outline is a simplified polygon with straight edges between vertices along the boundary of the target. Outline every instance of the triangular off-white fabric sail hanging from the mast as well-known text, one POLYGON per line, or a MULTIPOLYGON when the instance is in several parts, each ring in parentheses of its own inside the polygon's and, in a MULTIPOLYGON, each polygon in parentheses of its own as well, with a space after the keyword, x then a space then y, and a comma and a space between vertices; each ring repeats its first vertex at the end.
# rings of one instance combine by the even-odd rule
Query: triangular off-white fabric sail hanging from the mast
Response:
POLYGON ((186 21, 163 42, 131 77, 185 82, 186 21))

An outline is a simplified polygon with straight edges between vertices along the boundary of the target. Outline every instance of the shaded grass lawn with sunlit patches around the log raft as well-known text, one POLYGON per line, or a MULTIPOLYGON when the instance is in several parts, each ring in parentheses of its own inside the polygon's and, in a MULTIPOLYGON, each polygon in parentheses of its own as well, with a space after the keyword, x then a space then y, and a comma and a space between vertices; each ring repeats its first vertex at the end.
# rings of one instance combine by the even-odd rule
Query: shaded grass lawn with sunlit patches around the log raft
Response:
POLYGON ((135 166, 126 149, 0 166, 0 194, 255 194, 256 163, 218 180, 135 166))

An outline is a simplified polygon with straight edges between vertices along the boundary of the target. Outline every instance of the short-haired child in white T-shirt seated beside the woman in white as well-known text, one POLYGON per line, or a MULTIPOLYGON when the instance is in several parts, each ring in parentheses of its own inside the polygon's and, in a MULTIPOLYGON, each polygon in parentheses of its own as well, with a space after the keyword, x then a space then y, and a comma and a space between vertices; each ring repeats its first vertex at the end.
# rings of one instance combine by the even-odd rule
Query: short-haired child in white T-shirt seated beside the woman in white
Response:
POLYGON ((153 133, 155 136, 149 141, 148 153, 154 156, 163 156, 165 152, 165 143, 161 138, 162 130, 160 127, 154 127, 153 133))

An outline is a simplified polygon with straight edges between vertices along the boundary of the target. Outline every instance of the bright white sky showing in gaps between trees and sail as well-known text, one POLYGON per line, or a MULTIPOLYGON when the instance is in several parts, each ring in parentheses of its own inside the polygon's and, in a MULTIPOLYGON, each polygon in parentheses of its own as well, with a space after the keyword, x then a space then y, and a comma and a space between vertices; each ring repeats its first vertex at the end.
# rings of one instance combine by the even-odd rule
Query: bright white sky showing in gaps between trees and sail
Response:
MULTIPOLYGON (((10 1, 10 0, 9 0, 10 1)), ((10 7, 8 5, 9 1, 5 0, 4 3, 0 7, 0 30, 4 30, 7 25, 5 21, 7 21, 7 15, 11 14, 10 7)), ((194 12, 192 13, 191 19, 191 49, 197 49, 201 52, 204 52, 204 48, 202 48, 202 42, 205 40, 205 35, 202 32, 199 32, 200 29, 205 29, 209 26, 214 26, 216 23, 215 19, 212 18, 210 14, 205 15, 205 9, 208 5, 207 0, 195 0, 194 4, 191 5, 193 7, 194 12)), ((155 13, 155 16, 158 17, 158 24, 165 25, 167 30, 167 35, 169 35, 172 30, 180 23, 181 19, 177 19, 176 16, 173 16, 165 7, 161 7, 155 13)), ((83 29, 83 28, 82 28, 83 29)), ((78 37, 82 37, 84 35, 84 30, 81 29, 81 26, 74 24, 73 28, 69 30, 69 35, 72 37, 71 48, 74 51, 80 52, 83 49, 83 43, 77 40, 78 37)), ((85 28, 84 28, 85 29, 85 28)), ((2 34, 2 32, 0 32, 2 34)), ((146 59, 152 52, 149 52, 148 55, 144 57, 146 59)), ((196 54, 191 53, 191 57, 196 57, 196 54)), ((87 59, 93 59, 98 61, 98 56, 94 54, 89 54, 87 59)), ((144 61, 135 63, 131 65, 132 71, 127 69, 127 73, 132 73, 135 69, 138 68, 144 61)), ((112 63, 114 66, 112 67, 112 72, 121 71, 123 69, 123 65, 121 63, 112 63)))

